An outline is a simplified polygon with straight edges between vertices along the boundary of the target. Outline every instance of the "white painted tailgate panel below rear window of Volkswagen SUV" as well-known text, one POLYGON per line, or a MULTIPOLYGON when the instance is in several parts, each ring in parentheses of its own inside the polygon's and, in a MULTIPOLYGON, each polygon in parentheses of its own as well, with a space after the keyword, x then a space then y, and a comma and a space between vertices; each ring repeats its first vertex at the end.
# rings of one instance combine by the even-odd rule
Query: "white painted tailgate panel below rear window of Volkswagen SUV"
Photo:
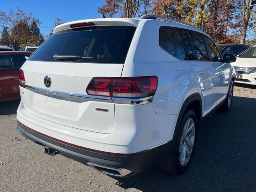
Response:
POLYGON ((54 62, 26 62, 23 70, 26 86, 30 89, 21 88, 24 108, 40 118, 66 126, 100 133, 111 132, 115 125, 112 100, 99 102, 86 97, 60 97, 60 94, 38 93, 37 90, 40 89, 86 96, 85 90, 92 77, 104 76, 106 72, 110 76, 120 76, 123 67, 122 64, 75 65, 74 70, 71 63, 62 63, 61 67, 65 70, 60 70, 60 64, 54 62), (50 88, 44 85, 46 75, 52 81, 50 88), (108 112, 97 111, 96 108, 107 109, 108 112))

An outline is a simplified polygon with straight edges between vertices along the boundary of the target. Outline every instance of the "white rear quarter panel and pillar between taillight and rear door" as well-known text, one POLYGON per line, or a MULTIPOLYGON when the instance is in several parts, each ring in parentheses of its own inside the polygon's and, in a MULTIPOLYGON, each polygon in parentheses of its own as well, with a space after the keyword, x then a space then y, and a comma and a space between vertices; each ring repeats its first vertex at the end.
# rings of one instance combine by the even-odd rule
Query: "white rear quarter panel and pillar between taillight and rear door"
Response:
POLYGON ((186 98, 199 92, 200 81, 193 73, 189 61, 178 60, 159 46, 161 26, 180 27, 171 22, 166 24, 156 20, 140 21, 124 64, 122 77, 158 76, 158 88, 153 100, 155 112, 179 114, 186 98))

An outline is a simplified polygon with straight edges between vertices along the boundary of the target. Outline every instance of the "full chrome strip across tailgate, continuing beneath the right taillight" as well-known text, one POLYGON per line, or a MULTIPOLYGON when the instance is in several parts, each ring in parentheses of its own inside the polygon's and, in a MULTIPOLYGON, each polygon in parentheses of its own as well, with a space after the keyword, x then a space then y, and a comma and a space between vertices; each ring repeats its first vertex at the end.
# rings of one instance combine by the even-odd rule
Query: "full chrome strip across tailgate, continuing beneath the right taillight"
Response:
POLYGON ((111 98, 111 97, 101 97, 101 96, 92 96, 92 95, 84 95, 84 94, 75 94, 75 93, 68 93, 68 92, 60 92, 50 89, 42 89, 38 87, 29 86, 26 84, 20 83, 20 86, 30 90, 32 92, 49 96, 49 97, 58 97, 58 98, 74 98, 74 99, 81 99, 81 100, 89 100, 89 101, 99 101, 99 102, 114 102, 117 104, 131 104, 131 105, 143 105, 148 104, 153 101, 154 96, 149 96, 145 98, 111 98))

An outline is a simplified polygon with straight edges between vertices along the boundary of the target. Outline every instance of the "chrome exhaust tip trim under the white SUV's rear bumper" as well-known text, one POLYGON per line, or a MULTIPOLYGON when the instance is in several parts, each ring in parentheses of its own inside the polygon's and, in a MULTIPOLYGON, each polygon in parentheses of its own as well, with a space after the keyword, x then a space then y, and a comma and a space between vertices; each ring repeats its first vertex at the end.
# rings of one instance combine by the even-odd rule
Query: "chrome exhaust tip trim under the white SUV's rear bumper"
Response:
POLYGON ((132 171, 124 168, 116 168, 116 167, 102 165, 94 162, 88 162, 87 164, 91 168, 94 168, 95 170, 110 176, 124 177, 132 173, 132 171))

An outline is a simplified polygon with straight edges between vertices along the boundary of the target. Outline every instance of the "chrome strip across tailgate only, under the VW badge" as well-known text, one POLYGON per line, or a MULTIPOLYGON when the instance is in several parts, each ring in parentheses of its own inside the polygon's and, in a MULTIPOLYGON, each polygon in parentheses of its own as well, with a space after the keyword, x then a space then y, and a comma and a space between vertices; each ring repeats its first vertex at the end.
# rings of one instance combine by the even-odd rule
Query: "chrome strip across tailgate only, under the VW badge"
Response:
POLYGON ((91 95, 84 95, 84 94, 74 94, 74 93, 67 93, 67 92, 60 92, 60 91, 54 91, 49 89, 41 89, 38 87, 33 87, 29 85, 24 85, 20 83, 21 87, 24 87, 32 92, 51 96, 51 97, 61 97, 61 98, 74 98, 74 99, 83 99, 83 100, 90 100, 90 101, 101 101, 101 102, 113 102, 110 97, 100 97, 100 96, 91 96, 91 95))

